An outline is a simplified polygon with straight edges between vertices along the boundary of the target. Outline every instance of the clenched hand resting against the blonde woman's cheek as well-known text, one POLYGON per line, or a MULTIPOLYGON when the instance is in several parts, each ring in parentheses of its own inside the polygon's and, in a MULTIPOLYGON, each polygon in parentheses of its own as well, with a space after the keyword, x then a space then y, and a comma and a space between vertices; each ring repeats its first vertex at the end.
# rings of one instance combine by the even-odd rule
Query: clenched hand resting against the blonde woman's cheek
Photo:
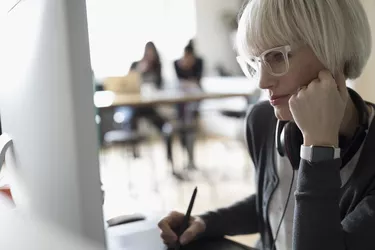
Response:
POLYGON ((336 146, 345 114, 348 90, 342 74, 327 71, 289 99, 290 111, 304 137, 304 145, 336 146))

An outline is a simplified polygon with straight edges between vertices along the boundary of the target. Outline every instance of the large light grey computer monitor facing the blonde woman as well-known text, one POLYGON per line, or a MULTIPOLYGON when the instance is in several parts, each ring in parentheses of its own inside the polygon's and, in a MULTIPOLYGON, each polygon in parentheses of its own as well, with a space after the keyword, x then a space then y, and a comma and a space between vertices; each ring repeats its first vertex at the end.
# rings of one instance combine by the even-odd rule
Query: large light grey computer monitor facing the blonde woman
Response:
POLYGON ((14 200, 104 249, 85 0, 5 1, 0 116, 14 200))

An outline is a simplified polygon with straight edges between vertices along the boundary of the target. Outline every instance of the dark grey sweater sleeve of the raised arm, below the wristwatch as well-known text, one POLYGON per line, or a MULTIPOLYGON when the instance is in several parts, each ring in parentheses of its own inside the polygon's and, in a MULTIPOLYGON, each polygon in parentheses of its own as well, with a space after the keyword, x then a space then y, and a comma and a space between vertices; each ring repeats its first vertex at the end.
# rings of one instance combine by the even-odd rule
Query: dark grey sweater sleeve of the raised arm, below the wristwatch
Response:
POLYGON ((341 220, 341 159, 301 160, 294 211, 294 250, 375 249, 375 191, 341 220))

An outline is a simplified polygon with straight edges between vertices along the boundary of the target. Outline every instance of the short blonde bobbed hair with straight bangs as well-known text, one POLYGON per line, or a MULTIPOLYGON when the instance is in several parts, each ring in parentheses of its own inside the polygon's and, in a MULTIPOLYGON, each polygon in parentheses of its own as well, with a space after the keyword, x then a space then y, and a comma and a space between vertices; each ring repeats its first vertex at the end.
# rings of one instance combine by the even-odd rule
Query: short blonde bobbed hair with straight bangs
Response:
POLYGON ((245 58, 282 45, 309 45, 331 72, 355 79, 371 53, 359 0, 250 0, 240 13, 236 49, 245 58))

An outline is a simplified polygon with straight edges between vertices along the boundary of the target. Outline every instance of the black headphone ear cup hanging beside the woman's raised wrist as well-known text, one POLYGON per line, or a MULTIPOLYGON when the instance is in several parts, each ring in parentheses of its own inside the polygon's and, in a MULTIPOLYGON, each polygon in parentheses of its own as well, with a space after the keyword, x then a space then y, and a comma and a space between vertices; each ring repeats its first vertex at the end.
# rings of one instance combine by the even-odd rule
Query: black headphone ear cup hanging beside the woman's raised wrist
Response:
POLYGON ((303 136, 294 122, 288 122, 283 129, 284 149, 294 170, 299 168, 301 145, 303 136))

